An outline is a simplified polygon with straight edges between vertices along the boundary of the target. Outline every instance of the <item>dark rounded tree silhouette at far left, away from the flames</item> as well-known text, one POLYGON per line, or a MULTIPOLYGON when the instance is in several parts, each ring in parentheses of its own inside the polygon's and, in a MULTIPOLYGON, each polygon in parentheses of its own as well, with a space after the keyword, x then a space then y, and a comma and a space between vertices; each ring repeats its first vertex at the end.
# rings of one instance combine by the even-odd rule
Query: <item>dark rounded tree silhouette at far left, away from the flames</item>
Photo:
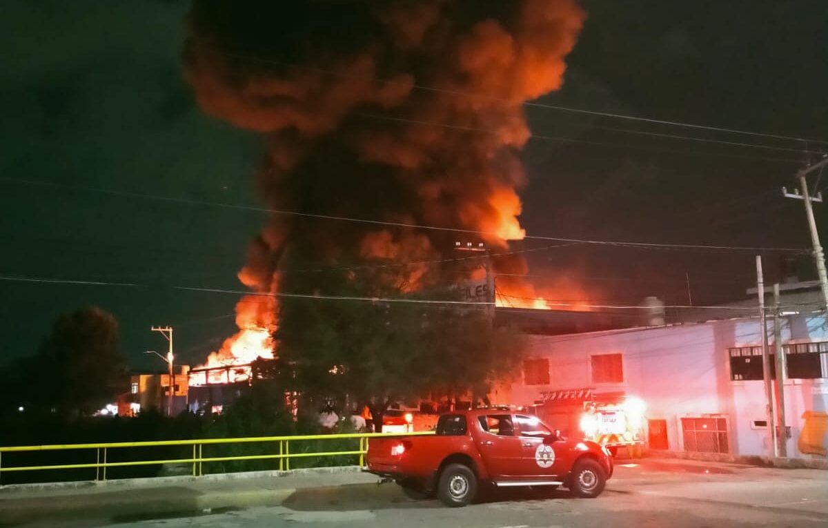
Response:
POLYGON ((28 405, 78 415, 114 401, 125 386, 126 365, 118 322, 89 307, 61 315, 36 356, 12 364, 7 375, 25 380, 20 391, 28 405))

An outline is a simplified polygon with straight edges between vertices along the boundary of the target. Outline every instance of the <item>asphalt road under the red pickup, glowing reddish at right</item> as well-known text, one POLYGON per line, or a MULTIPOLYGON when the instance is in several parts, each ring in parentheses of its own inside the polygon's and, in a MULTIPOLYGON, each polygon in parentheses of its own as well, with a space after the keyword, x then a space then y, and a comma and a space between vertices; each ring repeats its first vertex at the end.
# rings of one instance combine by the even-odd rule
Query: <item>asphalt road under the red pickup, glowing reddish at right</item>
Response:
POLYGON ((575 499, 566 490, 515 490, 487 493, 465 508, 412 501, 394 484, 378 486, 365 482, 365 475, 358 477, 357 482, 339 486, 297 489, 280 506, 190 512, 164 519, 115 517, 94 526, 828 526, 828 473, 819 470, 645 459, 617 467, 607 491, 597 499, 575 499))

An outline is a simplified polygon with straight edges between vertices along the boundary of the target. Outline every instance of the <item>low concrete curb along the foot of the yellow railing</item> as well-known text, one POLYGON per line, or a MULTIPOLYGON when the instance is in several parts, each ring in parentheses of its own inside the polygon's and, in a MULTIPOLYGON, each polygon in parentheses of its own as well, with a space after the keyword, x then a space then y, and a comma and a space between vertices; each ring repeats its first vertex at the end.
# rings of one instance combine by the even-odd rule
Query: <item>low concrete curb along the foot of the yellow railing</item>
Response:
POLYGON ((334 466, 331 468, 301 468, 290 471, 244 471, 239 473, 210 473, 201 477, 176 475, 170 477, 121 478, 117 480, 79 480, 74 482, 36 482, 32 484, 6 484, 0 486, 0 497, 4 493, 25 491, 50 491, 61 489, 79 489, 86 487, 144 487, 175 485, 185 482, 210 482, 246 478, 282 478, 302 475, 325 475, 330 473, 360 473, 359 466, 334 466))

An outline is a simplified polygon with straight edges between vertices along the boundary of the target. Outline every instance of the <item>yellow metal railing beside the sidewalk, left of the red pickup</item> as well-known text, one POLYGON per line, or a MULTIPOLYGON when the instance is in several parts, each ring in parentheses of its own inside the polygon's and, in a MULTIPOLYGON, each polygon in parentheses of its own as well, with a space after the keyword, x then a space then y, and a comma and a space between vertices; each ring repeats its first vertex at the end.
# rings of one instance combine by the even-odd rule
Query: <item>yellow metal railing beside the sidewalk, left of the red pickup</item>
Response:
MULTIPOLYGON (((55 445, 24 445, 15 447, 0 447, 0 476, 3 473, 22 472, 22 471, 46 471, 55 469, 80 469, 80 468, 94 468, 95 480, 107 479, 107 468, 122 468, 127 466, 147 466, 152 464, 165 463, 191 463, 193 465, 192 473, 194 477, 204 474, 205 462, 229 462, 241 460, 268 460, 278 459, 280 471, 291 470, 291 458, 310 458, 310 457, 339 457, 339 456, 354 456, 359 455, 359 465, 365 465, 365 454, 368 453, 368 440, 378 437, 388 436, 420 436, 425 434, 434 434, 434 431, 424 431, 416 433, 350 433, 350 434, 304 434, 294 436, 258 436, 248 438, 214 438, 214 439, 192 439, 192 440, 160 440, 153 442, 118 442, 109 444, 55 444, 55 445), (359 439, 359 446, 357 449, 344 451, 321 451, 314 453, 291 453, 291 442, 296 445, 296 442, 303 440, 336 440, 336 439, 359 439), (253 443, 278 443, 278 454, 274 452, 265 454, 250 454, 239 456, 204 456, 205 446, 213 445, 229 445, 229 444, 253 444, 253 443), (130 460, 127 462, 108 462, 108 454, 113 449, 123 448, 145 448, 145 447, 164 447, 164 446, 188 446, 191 445, 192 456, 187 458, 164 458, 158 460, 130 460), (3 466, 3 454, 11 453, 36 453, 44 451, 67 451, 67 450, 95 450, 94 463, 66 463, 66 464, 51 464, 41 466, 3 466)), ((9 457, 7 456, 6 459, 9 457)), ((111 459, 111 458, 110 458, 111 459)))

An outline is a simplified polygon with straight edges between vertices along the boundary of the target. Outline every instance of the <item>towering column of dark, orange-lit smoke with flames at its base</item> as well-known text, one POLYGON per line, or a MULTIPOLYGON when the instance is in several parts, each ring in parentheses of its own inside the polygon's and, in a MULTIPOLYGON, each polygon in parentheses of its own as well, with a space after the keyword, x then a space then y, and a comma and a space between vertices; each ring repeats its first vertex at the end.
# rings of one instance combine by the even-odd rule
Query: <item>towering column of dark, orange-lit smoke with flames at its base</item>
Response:
POLYGON ((294 214, 250 245, 238 333, 193 385, 243 382, 274 357, 277 295, 456 281, 434 262, 452 229, 492 248, 500 304, 547 307, 508 243, 525 236, 523 105, 561 87, 585 18, 575 0, 253 3, 194 2, 185 74, 206 113, 261 132, 259 193, 294 214))

